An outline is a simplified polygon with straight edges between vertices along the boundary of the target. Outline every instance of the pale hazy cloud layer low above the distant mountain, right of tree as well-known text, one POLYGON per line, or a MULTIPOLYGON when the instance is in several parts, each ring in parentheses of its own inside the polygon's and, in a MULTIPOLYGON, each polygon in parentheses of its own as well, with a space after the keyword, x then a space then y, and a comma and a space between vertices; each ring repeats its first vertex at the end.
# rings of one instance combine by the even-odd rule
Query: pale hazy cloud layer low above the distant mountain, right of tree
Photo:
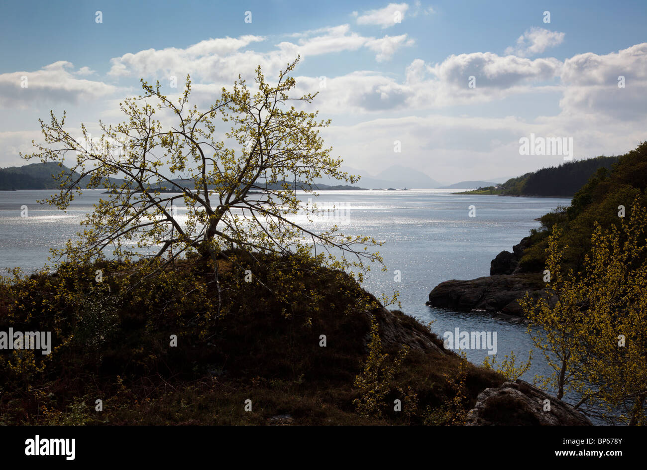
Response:
MULTIPOLYGON (((573 122, 547 117, 525 122, 516 117, 482 118, 430 114, 377 118, 322 133, 335 155, 355 168, 378 173, 394 164, 393 140, 400 140, 397 163, 417 168, 439 181, 500 177, 562 164, 561 156, 519 155, 519 139, 530 133, 573 137, 576 159, 618 155, 644 140, 644 120, 601 125, 593 116, 573 122)), ((360 180, 358 186, 362 186, 360 180)))

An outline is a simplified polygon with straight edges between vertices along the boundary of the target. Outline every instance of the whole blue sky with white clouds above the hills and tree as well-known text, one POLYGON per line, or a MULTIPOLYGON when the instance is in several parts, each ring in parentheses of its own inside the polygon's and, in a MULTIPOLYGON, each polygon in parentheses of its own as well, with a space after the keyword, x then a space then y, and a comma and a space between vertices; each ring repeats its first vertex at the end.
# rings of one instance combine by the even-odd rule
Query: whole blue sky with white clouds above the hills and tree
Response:
POLYGON ((319 93, 325 143, 363 172, 456 183, 564 162, 522 155, 531 134, 572 139, 575 159, 620 155, 646 140, 646 19, 644 0, 5 2, 0 167, 27 163, 50 110, 98 131, 140 78, 172 96, 186 74, 206 109, 298 54, 296 93, 319 93))

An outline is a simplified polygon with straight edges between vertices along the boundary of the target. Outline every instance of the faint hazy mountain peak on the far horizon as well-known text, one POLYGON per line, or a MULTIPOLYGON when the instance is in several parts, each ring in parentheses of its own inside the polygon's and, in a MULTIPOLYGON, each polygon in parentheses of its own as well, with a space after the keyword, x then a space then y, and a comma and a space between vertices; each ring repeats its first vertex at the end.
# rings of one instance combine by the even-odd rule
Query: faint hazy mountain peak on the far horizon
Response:
MULTIPOLYGON (((362 188, 434 189, 441 186, 441 183, 428 177, 425 173, 400 165, 390 166, 377 175, 371 175, 364 170, 345 165, 342 166, 341 170, 351 175, 360 176, 361 179, 356 184, 362 186, 362 188)), ((331 178, 322 178, 320 182, 326 185, 338 185, 340 183, 340 181, 331 178)))

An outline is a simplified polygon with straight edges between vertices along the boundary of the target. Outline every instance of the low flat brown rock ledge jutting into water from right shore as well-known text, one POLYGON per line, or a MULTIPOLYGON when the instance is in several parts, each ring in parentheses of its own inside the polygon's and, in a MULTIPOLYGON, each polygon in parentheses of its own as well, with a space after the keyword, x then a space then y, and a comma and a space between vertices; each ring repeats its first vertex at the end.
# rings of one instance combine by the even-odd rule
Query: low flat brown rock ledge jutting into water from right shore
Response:
POLYGON ((498 274, 472 280, 441 282, 429 294, 427 305, 455 310, 482 310, 522 315, 517 302, 525 293, 545 296, 542 274, 498 274))

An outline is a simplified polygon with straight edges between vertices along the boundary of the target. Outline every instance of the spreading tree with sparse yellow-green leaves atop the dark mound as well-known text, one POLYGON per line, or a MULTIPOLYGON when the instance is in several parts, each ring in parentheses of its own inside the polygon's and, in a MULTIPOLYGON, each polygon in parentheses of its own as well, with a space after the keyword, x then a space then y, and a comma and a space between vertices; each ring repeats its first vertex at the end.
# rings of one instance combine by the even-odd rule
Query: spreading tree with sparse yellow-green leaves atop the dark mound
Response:
MULTIPOLYGON (((297 186, 316 194, 313 182, 324 175, 357 180, 340 171, 341 159, 323 146, 319 129, 330 120, 296 109, 316 94, 288 95, 295 86, 288 74, 298 60, 278 74, 276 86, 267 84, 260 66, 253 90, 239 76, 232 91, 223 88, 206 110, 189 105, 190 76, 177 102, 161 93, 159 81, 153 86, 142 79, 143 95, 120 103, 126 120, 116 126, 100 122, 103 133, 96 140, 83 124, 82 139, 74 139, 64 129, 65 113, 60 119, 50 113, 49 123, 41 120, 46 145, 34 144, 38 152, 26 159, 62 165, 76 153, 72 173, 61 172, 60 193, 47 202, 67 208, 88 180, 90 186, 107 185, 110 193, 82 222, 78 240, 52 251, 56 260, 93 262, 112 251, 122 260, 163 259, 163 267, 192 251, 215 261, 233 248, 272 254, 314 248, 335 267, 361 272, 367 261, 381 262, 367 250, 379 245, 373 238, 344 236, 337 225, 316 232, 291 217, 304 210, 297 186), (158 115, 175 125, 164 126, 158 115), (217 139, 221 122, 229 123, 224 137, 235 149, 217 139), (186 207, 182 217, 180 201, 186 207)), ((309 219, 316 210, 305 209, 309 219)), ((215 269, 217 278, 217 263, 215 269)))

